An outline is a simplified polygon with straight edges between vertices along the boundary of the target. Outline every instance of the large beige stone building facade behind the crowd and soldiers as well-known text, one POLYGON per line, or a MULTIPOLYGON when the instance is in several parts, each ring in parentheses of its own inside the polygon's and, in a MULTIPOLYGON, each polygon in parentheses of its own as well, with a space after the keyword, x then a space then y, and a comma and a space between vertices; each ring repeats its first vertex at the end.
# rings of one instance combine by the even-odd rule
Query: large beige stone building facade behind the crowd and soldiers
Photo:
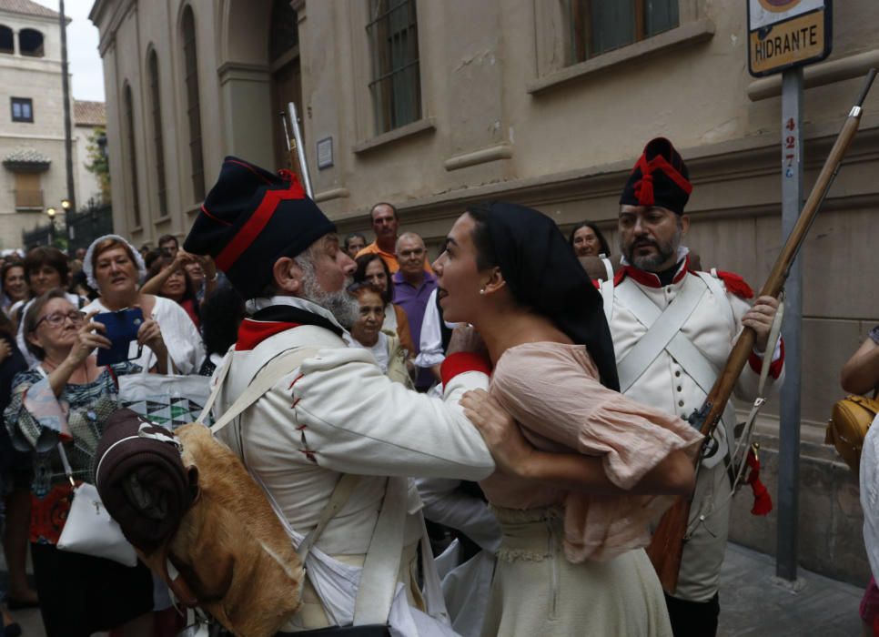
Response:
MULTIPOLYGON (((137 242, 183 236, 225 155, 280 167, 277 114, 293 99, 315 198, 342 232, 392 201, 435 246, 466 204, 504 198, 564 230, 597 221, 615 242, 621 187, 662 135, 690 167, 688 243, 703 266, 756 287, 782 243, 781 82, 748 74, 743 3, 97 0, 91 18, 115 225, 137 242)), ((807 187, 877 63, 879 5, 836 3, 833 54, 805 71, 807 187)), ((803 560, 854 580, 866 572, 854 482, 820 441, 839 369, 879 320, 862 276, 879 269, 879 90, 864 106, 803 249, 803 463, 823 480, 803 485, 803 519, 830 519, 804 523, 803 560)), ((773 550, 773 516, 736 507, 733 538, 773 550)))

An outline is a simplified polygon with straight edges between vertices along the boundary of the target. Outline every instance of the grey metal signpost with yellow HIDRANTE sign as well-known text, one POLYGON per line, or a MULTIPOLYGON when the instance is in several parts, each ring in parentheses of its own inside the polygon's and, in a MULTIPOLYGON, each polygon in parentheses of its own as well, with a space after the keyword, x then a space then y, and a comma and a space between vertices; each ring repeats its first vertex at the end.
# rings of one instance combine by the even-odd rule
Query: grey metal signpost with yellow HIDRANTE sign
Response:
MULTIPOLYGON (((832 0, 748 0, 748 69, 782 73, 782 237, 803 207, 803 66, 830 55, 832 0)), ((775 574, 796 581, 800 480, 803 273, 797 258, 784 286, 784 367, 778 437, 775 574)))

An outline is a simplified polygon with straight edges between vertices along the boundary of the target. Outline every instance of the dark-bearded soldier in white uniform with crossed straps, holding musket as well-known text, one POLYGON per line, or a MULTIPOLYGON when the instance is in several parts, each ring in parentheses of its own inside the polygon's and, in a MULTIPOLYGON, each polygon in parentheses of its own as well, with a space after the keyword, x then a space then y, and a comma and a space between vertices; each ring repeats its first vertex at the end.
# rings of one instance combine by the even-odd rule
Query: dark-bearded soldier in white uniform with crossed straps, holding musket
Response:
MULTIPOLYGON (((691 191, 687 167, 672 143, 664 138, 648 143, 620 199, 622 268, 601 283, 622 393, 684 420, 702 405, 743 326, 753 328, 756 339, 735 395, 756 398, 778 307, 774 298, 761 297, 751 308, 745 299, 753 291, 737 275, 690 269, 689 250, 681 241, 690 226, 684 206, 691 191)), ((769 378, 777 389, 783 376, 782 343, 772 360, 769 378)), ((706 637, 717 630, 734 417, 728 406, 714 435, 716 445, 702 460, 692 537, 684 543, 677 590, 666 592, 676 637, 706 637)))

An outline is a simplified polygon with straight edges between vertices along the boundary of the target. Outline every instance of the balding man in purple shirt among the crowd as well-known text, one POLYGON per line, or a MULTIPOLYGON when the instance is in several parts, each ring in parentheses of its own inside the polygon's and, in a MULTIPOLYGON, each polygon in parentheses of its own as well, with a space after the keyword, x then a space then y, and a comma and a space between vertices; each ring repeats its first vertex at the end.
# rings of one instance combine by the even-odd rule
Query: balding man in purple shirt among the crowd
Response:
MULTIPOLYGON (((424 269, 427 257, 424 240, 414 232, 404 232, 397 239, 399 270, 394 274, 394 303, 403 308, 409 319, 409 331, 416 349, 421 338, 421 323, 430 293, 437 287, 437 279, 424 269)), ((418 354, 418 351, 415 352, 418 354)), ((420 369, 415 379, 415 389, 427 391, 433 384, 429 369, 420 369)))

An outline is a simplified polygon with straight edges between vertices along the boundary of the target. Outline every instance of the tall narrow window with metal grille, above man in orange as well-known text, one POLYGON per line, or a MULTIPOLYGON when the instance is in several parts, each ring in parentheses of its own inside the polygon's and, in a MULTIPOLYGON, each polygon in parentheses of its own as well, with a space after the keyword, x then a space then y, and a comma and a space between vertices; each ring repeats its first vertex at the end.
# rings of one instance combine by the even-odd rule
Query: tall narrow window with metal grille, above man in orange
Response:
POLYGON ((421 117, 418 19, 415 0, 369 0, 372 56, 369 92, 376 134, 421 117))

